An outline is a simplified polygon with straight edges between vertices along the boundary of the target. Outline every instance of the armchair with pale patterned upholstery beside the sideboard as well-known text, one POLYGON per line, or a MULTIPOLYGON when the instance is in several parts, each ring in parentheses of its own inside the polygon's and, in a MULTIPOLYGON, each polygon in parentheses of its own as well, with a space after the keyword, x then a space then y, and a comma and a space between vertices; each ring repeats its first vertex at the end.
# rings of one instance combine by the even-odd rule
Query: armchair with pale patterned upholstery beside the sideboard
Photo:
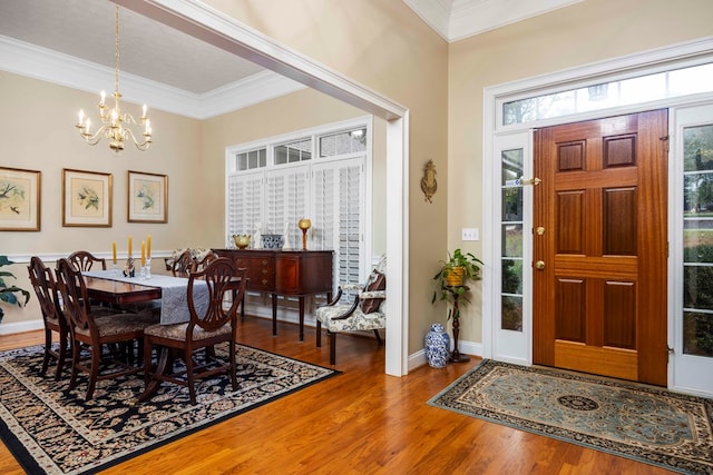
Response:
POLYGON ((330 364, 336 364, 336 334, 373 330, 379 345, 383 344, 380 329, 387 327, 383 301, 387 298, 387 256, 371 271, 367 284, 345 284, 339 287, 336 296, 325 306, 316 309, 316 346, 322 346, 322 326, 330 338, 330 364), (344 290, 354 291, 351 304, 340 304, 344 290))

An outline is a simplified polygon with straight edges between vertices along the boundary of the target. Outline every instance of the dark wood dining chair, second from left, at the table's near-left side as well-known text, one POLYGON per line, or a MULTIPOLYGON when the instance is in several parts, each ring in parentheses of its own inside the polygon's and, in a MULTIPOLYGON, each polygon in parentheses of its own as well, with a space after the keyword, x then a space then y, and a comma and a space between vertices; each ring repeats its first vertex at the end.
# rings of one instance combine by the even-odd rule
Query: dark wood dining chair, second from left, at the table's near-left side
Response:
POLYGON ((57 263, 56 274, 71 337, 69 389, 75 388, 78 374, 86 373, 89 382, 85 400, 89 400, 97 380, 136 374, 141 369, 129 364, 133 358, 128 353, 118 349, 128 348, 133 352, 134 343, 143 343, 144 328, 155 324, 157 319, 152 315, 128 313, 96 317, 91 307, 86 304, 87 286, 81 271, 77 270, 69 259, 62 258, 57 263), (110 349, 109 360, 102 360, 105 345, 110 349), (82 357, 80 348, 88 349, 90 356, 82 357), (111 370, 106 370, 105 367, 105 372, 100 372, 100 365, 110 366, 111 370))

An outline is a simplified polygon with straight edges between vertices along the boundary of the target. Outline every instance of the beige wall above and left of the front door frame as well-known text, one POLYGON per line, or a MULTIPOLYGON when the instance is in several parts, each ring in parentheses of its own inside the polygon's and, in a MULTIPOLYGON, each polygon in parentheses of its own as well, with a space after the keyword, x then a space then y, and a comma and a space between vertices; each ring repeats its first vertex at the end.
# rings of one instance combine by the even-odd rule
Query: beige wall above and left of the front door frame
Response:
MULTIPOLYGON (((712 18, 710 0, 587 0, 450 44, 449 248, 481 254, 460 228, 482 222, 484 88, 711 36, 712 18)), ((478 301, 465 340, 482 342, 478 301)))

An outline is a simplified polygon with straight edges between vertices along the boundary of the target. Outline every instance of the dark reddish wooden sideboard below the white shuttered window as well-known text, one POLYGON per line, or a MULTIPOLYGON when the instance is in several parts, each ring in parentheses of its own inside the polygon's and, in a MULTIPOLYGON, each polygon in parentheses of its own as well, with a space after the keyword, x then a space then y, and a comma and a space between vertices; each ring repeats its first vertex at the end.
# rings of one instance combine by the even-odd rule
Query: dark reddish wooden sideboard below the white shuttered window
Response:
POLYGON ((272 334, 277 335, 277 295, 300 299, 300 340, 304 340, 304 297, 332 299, 332 250, 213 249, 247 269, 247 290, 272 294, 272 334))

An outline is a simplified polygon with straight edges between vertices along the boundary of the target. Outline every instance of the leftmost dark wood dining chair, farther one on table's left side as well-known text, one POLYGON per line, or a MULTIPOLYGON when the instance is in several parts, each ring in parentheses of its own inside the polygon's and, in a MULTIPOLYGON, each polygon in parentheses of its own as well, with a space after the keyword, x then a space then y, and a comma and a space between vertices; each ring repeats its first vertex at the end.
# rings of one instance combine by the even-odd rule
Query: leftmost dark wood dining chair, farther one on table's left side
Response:
MULTIPOLYGON (((42 259, 37 256, 30 258, 30 265, 27 266, 30 283, 37 294, 37 300, 40 304, 42 313, 42 321, 45 324, 45 356, 42 358, 41 374, 45 376, 49 367, 50 359, 57 360, 57 369, 55 370, 55 380, 59 380, 65 360, 69 355, 69 327, 65 314, 62 313, 59 301, 57 285, 55 283, 53 271, 45 266, 42 259), (52 348, 52 335, 59 336, 59 349, 52 348)), ((71 357, 71 356, 70 356, 71 357)))

